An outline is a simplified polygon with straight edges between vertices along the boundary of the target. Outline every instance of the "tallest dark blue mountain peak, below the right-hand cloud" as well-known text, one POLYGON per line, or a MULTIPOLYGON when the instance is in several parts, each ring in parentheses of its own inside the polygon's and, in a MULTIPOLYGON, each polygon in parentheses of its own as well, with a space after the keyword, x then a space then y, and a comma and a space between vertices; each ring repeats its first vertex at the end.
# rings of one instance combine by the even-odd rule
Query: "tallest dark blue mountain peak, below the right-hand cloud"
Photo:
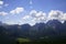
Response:
POLYGON ((46 25, 51 28, 52 32, 54 32, 54 35, 61 35, 63 24, 58 20, 51 20, 46 23, 46 25))

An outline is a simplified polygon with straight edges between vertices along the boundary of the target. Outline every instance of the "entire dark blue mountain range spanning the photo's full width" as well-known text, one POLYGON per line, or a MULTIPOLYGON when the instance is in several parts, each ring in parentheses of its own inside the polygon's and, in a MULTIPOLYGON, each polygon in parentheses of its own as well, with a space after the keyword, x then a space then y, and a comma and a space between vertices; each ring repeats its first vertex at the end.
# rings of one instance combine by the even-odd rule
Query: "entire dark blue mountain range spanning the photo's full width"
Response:
POLYGON ((63 38, 66 36, 66 21, 61 23, 58 20, 51 20, 47 23, 36 23, 33 26, 30 24, 8 25, 0 22, 0 38, 8 38, 10 41, 18 37, 28 37, 32 40, 56 37, 63 38))

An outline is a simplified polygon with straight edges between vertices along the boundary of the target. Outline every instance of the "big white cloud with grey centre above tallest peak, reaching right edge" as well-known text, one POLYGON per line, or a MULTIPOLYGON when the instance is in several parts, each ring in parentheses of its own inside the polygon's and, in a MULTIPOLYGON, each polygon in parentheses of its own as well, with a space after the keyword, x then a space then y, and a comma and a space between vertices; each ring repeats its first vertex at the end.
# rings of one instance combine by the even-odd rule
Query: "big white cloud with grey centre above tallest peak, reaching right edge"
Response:
POLYGON ((59 10, 52 10, 48 13, 47 20, 58 20, 62 23, 64 23, 66 21, 66 13, 64 13, 63 11, 59 10))

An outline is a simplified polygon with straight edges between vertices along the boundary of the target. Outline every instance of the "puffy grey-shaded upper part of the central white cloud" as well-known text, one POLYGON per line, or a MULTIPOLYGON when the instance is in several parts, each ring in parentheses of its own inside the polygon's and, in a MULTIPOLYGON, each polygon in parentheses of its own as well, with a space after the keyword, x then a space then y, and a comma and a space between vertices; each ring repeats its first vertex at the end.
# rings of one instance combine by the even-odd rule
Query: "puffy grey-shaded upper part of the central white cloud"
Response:
POLYGON ((43 11, 36 11, 36 10, 32 10, 31 12, 30 12, 30 15, 32 16, 32 18, 36 18, 36 19, 46 19, 46 13, 45 12, 43 12, 43 11))

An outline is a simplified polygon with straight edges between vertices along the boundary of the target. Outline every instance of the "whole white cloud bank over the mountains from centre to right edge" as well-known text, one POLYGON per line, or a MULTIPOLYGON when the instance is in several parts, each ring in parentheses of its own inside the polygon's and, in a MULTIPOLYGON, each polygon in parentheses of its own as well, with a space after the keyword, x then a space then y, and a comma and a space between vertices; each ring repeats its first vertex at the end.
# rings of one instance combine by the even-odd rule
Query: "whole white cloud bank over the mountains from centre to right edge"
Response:
POLYGON ((43 11, 32 10, 28 15, 22 18, 26 23, 34 25, 40 22, 48 22, 50 20, 58 20, 64 23, 66 21, 66 13, 59 10, 51 10, 47 14, 43 11))

